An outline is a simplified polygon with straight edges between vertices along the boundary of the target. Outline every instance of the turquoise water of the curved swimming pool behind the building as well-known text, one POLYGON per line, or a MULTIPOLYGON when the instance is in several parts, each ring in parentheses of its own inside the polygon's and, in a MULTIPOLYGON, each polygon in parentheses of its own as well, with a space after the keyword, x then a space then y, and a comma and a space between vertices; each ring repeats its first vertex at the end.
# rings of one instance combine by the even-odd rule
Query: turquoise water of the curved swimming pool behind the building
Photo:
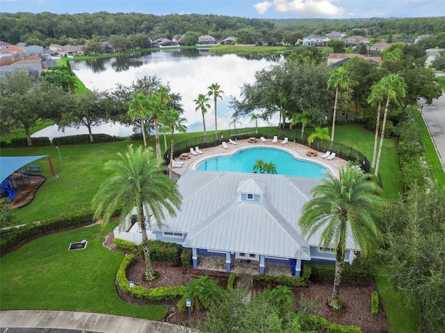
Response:
POLYGON ((323 178, 328 171, 320 164, 298 160, 290 153, 275 148, 248 148, 234 155, 212 157, 197 165, 197 170, 252 173, 257 160, 275 163, 278 175, 323 178))

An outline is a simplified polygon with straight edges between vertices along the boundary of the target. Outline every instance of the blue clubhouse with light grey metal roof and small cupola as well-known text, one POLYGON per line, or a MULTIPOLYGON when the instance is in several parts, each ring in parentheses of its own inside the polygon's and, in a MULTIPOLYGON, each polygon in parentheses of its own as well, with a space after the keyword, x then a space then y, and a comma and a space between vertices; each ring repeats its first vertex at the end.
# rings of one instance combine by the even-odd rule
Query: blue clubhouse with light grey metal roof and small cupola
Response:
MULTIPOLYGON (((321 232, 307 240, 298 225, 302 206, 318 182, 264 173, 186 171, 177 182, 183 197, 177 216, 167 214, 162 229, 152 223, 148 236, 191 248, 193 268, 200 268, 200 258, 211 256, 227 272, 241 259, 257 273, 269 264, 282 264, 300 275, 305 260, 335 261, 332 248, 319 248, 321 232)), ((137 223, 129 232, 116 228, 114 236, 142 241, 137 223)), ((353 261, 356 249, 348 237, 346 263, 353 261)))

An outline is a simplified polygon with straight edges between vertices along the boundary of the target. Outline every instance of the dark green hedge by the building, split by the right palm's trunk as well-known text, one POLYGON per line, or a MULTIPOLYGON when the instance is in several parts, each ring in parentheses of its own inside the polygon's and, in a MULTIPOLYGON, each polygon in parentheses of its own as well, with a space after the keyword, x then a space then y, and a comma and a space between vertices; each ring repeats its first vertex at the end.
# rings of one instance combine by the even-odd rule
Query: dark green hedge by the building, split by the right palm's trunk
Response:
MULTIPOLYGON (((335 264, 332 262, 305 262, 303 271, 307 266, 312 268, 312 275, 317 278, 334 278, 335 264)), ((353 264, 343 265, 341 280, 345 281, 370 281, 373 277, 372 267, 368 260, 356 258, 353 264)))

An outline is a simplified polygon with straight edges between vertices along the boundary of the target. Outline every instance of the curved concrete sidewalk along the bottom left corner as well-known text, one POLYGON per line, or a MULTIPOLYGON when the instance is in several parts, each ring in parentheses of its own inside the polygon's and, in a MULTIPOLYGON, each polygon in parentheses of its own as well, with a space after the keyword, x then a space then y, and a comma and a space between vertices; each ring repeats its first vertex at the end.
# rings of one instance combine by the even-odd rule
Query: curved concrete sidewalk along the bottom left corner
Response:
POLYGON ((46 328, 53 329, 51 332, 73 333, 170 333, 179 330, 180 332, 193 332, 187 327, 113 314, 39 310, 0 311, 0 327, 0 333, 49 332, 44 330, 46 328), (29 330, 17 330, 17 328, 27 328, 29 330), (35 330, 40 328, 42 331, 35 330))

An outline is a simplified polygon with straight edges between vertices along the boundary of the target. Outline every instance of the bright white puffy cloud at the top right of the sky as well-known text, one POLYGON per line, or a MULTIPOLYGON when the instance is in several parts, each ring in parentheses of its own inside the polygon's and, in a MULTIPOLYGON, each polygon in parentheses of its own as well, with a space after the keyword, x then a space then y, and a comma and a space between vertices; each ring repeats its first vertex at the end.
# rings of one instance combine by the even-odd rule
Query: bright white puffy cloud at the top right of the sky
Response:
POLYGON ((273 0, 257 3, 254 8, 261 15, 274 7, 277 12, 298 14, 302 17, 338 17, 344 11, 344 8, 336 5, 338 2, 338 0, 273 0))

